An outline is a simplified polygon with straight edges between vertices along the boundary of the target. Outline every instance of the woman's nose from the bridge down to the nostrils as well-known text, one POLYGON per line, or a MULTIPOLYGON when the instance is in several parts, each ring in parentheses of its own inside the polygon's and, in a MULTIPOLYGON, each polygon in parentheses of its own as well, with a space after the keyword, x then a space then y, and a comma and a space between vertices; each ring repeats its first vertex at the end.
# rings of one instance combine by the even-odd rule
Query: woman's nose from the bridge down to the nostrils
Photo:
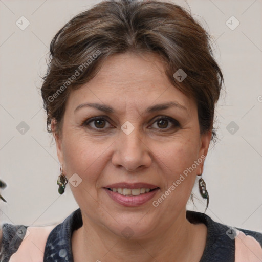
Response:
POLYGON ((124 167, 129 172, 135 172, 151 165, 151 153, 138 127, 132 133, 125 134, 120 130, 119 138, 115 141, 115 151, 112 163, 116 167, 124 167))

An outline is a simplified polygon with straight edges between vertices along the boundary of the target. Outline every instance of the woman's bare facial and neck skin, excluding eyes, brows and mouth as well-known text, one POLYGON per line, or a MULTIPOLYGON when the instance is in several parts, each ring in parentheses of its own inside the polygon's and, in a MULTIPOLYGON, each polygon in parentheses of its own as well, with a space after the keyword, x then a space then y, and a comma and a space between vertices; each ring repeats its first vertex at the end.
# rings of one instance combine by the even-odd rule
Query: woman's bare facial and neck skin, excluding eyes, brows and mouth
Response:
POLYGON ((109 57, 96 77, 70 93, 62 132, 54 136, 63 173, 67 179, 74 173, 82 179, 77 187, 68 184, 83 218, 83 226, 72 236, 74 261, 151 262, 170 261, 170 256, 182 262, 200 260, 207 228, 186 220, 186 204, 204 161, 158 207, 152 201, 207 155, 211 130, 200 135, 197 104, 169 82, 157 55, 109 57), (186 110, 170 107, 144 113, 151 105, 170 101, 186 110), (116 113, 92 107, 74 112, 86 102, 112 106, 116 113), (101 122, 82 125, 96 116, 107 116, 102 129, 101 122), (181 126, 157 121, 161 116, 181 126), (126 121, 135 127, 129 135, 120 128, 126 121), (160 190, 142 206, 124 207, 102 189, 118 182, 145 182, 160 190), (134 232, 129 239, 121 233, 126 226, 134 232))

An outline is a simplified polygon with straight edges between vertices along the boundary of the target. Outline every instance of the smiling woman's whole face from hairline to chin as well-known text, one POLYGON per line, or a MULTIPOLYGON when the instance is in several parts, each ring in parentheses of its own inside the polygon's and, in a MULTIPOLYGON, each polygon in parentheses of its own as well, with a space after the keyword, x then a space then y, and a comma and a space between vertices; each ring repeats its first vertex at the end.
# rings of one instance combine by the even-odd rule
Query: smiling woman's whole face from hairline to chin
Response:
POLYGON ((185 220, 210 137, 200 135, 197 104, 168 81, 158 56, 126 53, 71 92, 56 142, 83 223, 139 238, 185 220))

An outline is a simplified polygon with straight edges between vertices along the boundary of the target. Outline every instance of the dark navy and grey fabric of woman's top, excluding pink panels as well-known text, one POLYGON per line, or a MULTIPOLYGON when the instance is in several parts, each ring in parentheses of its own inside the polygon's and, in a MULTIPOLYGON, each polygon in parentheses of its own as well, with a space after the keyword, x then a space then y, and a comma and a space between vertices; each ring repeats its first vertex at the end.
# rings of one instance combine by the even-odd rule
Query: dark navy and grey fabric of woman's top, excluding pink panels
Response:
MULTIPOLYGON (((206 246, 200 262, 235 262, 235 239, 233 234, 236 231, 234 229, 214 222, 204 213, 187 211, 186 216, 190 223, 204 223, 207 226, 206 246)), ((79 208, 50 232, 46 242, 43 262, 73 262, 71 237, 73 231, 82 225, 82 215, 79 208)), ((11 255, 19 248, 23 237, 18 236, 17 230, 21 229, 21 227, 23 229, 28 228, 28 226, 23 225, 3 225, 0 262, 8 262, 11 255)), ((262 233, 239 228, 237 230, 241 231, 241 234, 254 237, 262 247, 262 233)))

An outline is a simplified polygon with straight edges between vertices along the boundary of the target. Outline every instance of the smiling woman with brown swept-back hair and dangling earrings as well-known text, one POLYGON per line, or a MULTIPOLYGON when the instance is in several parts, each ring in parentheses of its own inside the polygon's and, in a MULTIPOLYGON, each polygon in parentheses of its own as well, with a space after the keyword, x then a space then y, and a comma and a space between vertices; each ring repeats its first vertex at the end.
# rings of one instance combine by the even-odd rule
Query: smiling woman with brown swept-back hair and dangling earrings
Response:
POLYGON ((171 3, 110 0, 50 49, 41 92, 58 191, 70 186, 79 209, 52 227, 4 224, 1 261, 261 261, 262 234, 186 211, 197 176, 208 207, 223 83, 200 24, 171 3))

